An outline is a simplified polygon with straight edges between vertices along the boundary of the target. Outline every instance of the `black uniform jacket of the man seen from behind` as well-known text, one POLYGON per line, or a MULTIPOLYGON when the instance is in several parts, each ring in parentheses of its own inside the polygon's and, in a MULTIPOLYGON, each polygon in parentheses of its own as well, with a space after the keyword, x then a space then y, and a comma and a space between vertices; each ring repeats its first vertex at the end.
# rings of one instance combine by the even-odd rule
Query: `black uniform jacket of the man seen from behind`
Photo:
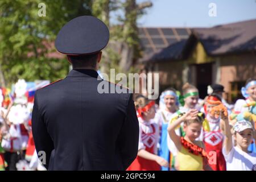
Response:
POLYGON ((132 94, 96 71, 73 69, 36 91, 32 134, 48 170, 125 170, 138 153, 132 94), (115 87, 127 93, 102 93, 115 87))

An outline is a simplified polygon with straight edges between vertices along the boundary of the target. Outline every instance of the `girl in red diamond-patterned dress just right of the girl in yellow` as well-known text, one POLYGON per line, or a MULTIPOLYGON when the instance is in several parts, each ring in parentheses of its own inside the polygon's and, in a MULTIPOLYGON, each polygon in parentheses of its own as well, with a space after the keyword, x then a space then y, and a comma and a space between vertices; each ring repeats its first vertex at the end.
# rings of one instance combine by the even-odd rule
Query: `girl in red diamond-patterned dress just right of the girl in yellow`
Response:
POLYGON ((204 131, 204 145, 208 155, 212 151, 216 152, 212 163, 209 163, 210 167, 214 171, 225 171, 226 162, 222 154, 222 143, 224 141, 224 135, 222 134, 221 126, 223 121, 220 117, 214 116, 214 108, 221 104, 221 98, 212 95, 207 98, 204 105, 205 115, 209 122, 210 131, 204 131), (216 157, 215 157, 216 156, 216 157))

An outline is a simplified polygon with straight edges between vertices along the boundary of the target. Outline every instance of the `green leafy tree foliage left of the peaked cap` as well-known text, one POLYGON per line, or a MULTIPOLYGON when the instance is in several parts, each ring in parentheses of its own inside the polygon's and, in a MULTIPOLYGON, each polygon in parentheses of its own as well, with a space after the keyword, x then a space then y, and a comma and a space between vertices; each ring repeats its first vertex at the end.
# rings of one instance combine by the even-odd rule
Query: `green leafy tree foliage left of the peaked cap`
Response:
POLYGON ((0 68, 7 85, 18 78, 54 81, 67 75, 66 58, 48 56, 56 52, 57 32, 72 18, 92 14, 92 1, 46 0, 46 16, 40 17, 39 3, 42 1, 0 1, 0 68))

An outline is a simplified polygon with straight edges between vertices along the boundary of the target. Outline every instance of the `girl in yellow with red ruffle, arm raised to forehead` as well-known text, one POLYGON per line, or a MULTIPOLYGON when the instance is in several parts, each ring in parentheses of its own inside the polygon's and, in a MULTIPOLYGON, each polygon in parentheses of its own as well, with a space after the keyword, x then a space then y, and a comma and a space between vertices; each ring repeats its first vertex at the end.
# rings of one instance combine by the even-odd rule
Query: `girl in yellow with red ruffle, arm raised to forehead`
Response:
POLYGON ((179 114, 179 117, 168 126, 168 134, 177 148, 176 169, 180 171, 211 170, 208 165, 209 156, 204 150, 204 143, 196 140, 203 126, 203 113, 191 109, 187 113, 179 114), (175 129, 184 122, 184 137, 176 134, 175 129))

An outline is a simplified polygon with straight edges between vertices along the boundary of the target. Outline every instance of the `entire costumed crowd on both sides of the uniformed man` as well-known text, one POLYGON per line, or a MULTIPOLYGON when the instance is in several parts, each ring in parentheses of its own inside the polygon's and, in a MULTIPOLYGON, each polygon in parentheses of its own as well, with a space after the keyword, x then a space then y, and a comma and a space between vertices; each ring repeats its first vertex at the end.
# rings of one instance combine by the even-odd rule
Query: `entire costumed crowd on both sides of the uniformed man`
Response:
MULTIPOLYGON (((14 93, 1 89, 0 170, 46 170, 36 154, 31 131, 34 93, 24 81, 14 93)), ((234 106, 222 98, 222 85, 199 90, 184 84, 179 94, 168 88, 159 104, 139 95, 138 155, 127 170, 252 170, 256 169, 256 80, 249 79, 234 106)))

